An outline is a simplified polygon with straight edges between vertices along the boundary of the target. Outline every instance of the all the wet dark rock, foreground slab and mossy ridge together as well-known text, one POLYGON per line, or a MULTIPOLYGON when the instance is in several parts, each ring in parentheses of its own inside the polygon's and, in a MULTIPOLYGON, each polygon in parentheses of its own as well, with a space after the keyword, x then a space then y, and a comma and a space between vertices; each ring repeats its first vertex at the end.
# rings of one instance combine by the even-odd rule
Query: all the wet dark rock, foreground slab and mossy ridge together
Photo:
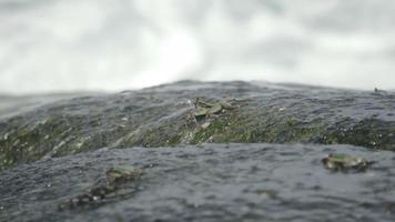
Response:
POLYGON ((0 221, 393 221, 394 92, 182 81, 68 98, 0 98, 0 221))

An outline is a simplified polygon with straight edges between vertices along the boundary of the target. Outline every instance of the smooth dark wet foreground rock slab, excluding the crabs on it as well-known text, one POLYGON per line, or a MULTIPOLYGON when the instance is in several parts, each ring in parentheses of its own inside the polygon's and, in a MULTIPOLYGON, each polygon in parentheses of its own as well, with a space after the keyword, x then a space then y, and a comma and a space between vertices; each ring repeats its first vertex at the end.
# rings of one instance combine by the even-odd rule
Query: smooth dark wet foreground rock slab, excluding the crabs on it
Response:
POLYGON ((101 149, 0 175, 0 221, 393 221, 395 153, 352 145, 203 144, 101 149), (375 161, 331 172, 342 152, 375 161), (143 174, 101 202, 59 210, 114 165, 143 174))

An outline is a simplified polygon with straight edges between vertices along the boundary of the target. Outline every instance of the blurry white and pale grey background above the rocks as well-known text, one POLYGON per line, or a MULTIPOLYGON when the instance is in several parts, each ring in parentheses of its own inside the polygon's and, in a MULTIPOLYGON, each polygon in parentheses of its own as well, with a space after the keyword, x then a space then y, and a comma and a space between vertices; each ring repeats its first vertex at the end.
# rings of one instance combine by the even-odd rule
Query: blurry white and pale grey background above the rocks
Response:
POLYGON ((395 1, 0 0, 0 93, 181 79, 395 89, 395 1))

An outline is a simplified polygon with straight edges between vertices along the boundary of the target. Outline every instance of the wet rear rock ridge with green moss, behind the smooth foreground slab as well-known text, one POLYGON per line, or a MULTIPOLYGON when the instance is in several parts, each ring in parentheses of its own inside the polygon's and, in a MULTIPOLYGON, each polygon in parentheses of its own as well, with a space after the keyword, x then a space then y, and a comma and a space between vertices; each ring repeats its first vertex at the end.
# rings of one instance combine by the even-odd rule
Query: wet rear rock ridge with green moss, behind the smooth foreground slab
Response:
POLYGON ((204 142, 395 150, 395 93, 182 81, 62 100, 0 119, 0 168, 100 148, 204 142))

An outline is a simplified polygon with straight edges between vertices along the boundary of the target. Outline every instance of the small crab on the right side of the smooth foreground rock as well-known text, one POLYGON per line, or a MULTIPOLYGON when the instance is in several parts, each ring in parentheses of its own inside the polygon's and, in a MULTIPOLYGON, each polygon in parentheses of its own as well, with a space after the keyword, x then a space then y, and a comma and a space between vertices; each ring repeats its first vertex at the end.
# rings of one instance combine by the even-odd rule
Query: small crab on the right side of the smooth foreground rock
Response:
POLYGON ((374 163, 364 158, 351 157, 344 153, 331 153, 327 158, 322 159, 322 162, 331 171, 354 170, 356 172, 364 171, 374 163))

